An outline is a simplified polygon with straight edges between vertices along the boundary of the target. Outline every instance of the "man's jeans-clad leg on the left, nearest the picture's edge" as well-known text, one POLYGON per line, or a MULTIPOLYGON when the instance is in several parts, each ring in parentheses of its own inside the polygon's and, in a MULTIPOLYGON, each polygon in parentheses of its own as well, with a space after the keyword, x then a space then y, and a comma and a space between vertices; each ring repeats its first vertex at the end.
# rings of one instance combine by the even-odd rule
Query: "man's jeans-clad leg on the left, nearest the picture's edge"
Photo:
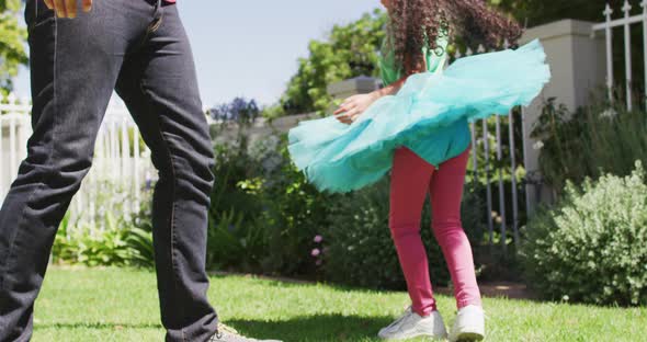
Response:
POLYGON ((34 134, 0 210, 0 341, 27 341, 56 230, 90 169, 94 140, 125 42, 111 1, 57 20, 26 3, 34 134), (106 26, 111 18, 112 26, 106 26))

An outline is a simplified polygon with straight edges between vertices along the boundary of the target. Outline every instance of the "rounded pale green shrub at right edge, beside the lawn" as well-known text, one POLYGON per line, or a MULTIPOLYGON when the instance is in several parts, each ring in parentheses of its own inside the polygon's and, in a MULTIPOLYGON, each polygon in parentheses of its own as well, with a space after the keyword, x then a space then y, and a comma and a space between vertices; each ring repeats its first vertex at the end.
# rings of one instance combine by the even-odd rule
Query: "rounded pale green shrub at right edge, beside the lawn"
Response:
POLYGON ((561 202, 529 224, 523 260, 547 298, 647 304, 647 185, 639 162, 625 178, 568 183, 561 202))

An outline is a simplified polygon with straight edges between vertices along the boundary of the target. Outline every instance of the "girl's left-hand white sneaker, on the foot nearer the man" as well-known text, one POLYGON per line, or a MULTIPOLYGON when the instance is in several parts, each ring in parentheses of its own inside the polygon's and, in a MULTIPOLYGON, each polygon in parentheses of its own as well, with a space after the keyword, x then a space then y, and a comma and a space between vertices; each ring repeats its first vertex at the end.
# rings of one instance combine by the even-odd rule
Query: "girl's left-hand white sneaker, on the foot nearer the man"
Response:
POLYGON ((383 340, 407 340, 417 337, 444 339, 447 337, 447 331, 439 311, 433 311, 428 317, 421 317, 408 308, 402 317, 379 330, 377 335, 383 340))

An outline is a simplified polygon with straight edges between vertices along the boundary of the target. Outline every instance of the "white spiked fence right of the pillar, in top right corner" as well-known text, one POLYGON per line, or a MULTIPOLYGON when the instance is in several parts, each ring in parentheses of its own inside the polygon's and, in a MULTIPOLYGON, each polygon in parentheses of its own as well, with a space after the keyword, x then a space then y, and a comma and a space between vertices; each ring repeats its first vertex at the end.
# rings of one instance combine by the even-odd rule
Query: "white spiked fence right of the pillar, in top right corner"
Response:
MULTIPOLYGON (((613 30, 616 27, 623 29, 623 43, 624 43, 624 62, 625 62, 625 96, 627 109, 632 110, 634 105, 633 95, 633 66, 632 66, 632 35, 631 29, 634 24, 643 25, 643 49, 644 49, 644 62, 645 62, 645 80, 647 80, 647 0, 643 0, 639 4, 643 8, 642 13, 637 15, 631 15, 632 4, 628 0, 625 0, 621 11, 623 16, 620 19, 613 19, 613 9, 609 3, 604 9, 605 21, 603 23, 593 26, 592 34, 597 32, 604 32, 606 38, 606 87, 609 89, 609 99, 613 100, 613 88, 615 86, 614 70, 613 70, 613 30)), ((647 87, 645 87, 647 92, 647 87)), ((645 94, 647 99, 647 93, 645 94)))

